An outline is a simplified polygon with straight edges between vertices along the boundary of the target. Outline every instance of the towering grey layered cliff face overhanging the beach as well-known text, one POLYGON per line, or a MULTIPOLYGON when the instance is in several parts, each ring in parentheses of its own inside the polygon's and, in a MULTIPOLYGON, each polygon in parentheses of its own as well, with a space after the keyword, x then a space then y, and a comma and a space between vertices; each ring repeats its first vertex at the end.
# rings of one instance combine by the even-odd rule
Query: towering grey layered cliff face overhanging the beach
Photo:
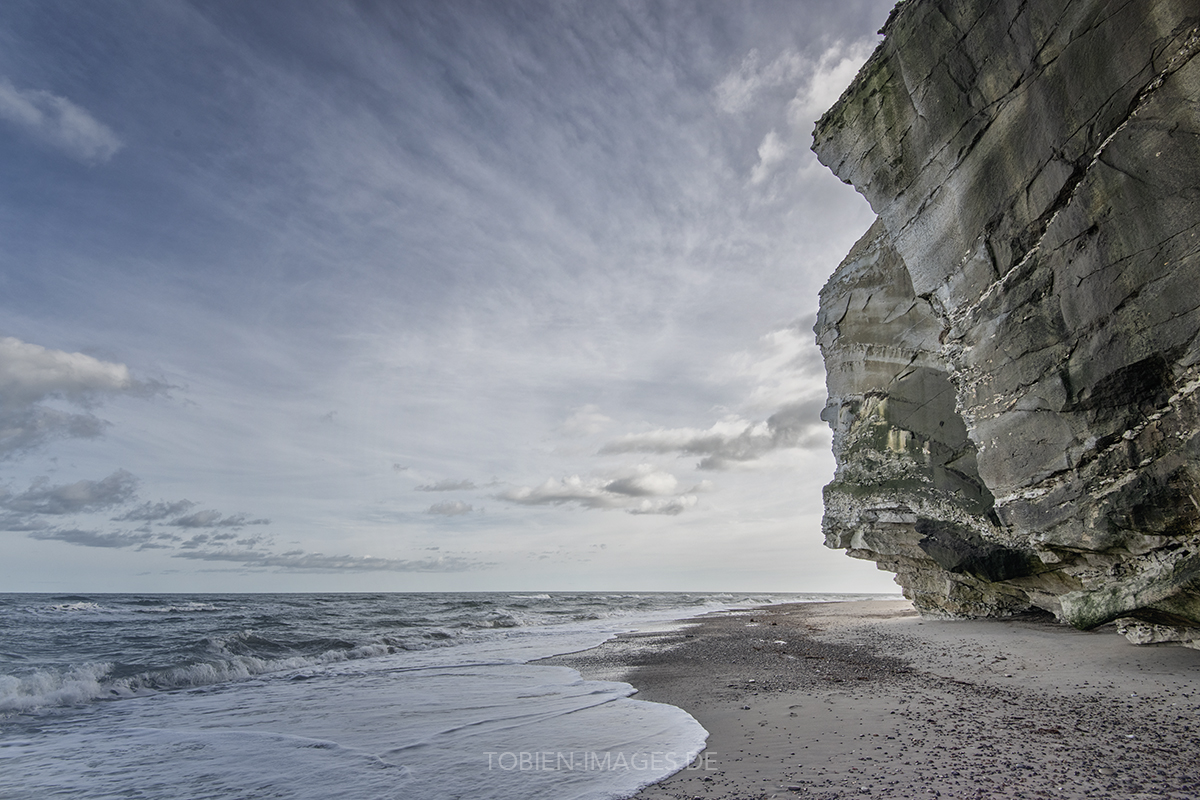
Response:
POLYGON ((1200 2, 910 0, 814 150, 826 543, 929 613, 1200 643, 1200 2))

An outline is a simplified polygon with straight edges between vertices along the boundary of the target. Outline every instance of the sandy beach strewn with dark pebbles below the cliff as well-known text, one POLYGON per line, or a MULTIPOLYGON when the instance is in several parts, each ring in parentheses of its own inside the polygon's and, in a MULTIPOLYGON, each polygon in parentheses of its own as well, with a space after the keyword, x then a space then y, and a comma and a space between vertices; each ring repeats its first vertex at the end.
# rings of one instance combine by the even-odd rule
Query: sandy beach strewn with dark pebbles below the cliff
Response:
POLYGON ((709 732, 638 800, 1200 796, 1200 651, 1111 626, 770 606, 551 660, 709 732))

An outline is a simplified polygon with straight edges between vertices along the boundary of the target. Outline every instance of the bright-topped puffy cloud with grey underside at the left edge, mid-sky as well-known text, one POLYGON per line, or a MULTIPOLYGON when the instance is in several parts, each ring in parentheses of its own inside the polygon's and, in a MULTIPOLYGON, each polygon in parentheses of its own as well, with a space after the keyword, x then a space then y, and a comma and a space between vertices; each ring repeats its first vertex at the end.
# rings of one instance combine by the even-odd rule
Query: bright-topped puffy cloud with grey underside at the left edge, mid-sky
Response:
POLYGON ((97 397, 146 395, 160 387, 134 380, 124 363, 52 350, 11 336, 0 338, 0 458, 56 438, 95 438, 107 422, 90 413, 41 405, 58 398, 86 409, 97 397))

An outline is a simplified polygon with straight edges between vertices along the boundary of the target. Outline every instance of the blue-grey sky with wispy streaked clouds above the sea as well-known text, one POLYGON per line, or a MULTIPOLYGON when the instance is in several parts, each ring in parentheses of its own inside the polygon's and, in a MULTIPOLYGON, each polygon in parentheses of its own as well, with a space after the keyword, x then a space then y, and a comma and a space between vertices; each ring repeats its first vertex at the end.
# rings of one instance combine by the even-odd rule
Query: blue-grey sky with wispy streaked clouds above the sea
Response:
POLYGON ((896 591, 809 151, 890 0, 6 0, 0 591, 896 591))

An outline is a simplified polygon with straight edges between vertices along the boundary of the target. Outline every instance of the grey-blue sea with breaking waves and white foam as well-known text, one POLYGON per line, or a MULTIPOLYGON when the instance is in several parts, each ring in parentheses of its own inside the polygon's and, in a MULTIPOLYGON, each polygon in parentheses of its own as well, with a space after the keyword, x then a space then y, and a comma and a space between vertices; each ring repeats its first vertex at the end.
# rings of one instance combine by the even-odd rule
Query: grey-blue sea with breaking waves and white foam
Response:
POLYGON ((707 732, 536 660, 858 597, 0 594, 0 800, 630 798, 707 732))

